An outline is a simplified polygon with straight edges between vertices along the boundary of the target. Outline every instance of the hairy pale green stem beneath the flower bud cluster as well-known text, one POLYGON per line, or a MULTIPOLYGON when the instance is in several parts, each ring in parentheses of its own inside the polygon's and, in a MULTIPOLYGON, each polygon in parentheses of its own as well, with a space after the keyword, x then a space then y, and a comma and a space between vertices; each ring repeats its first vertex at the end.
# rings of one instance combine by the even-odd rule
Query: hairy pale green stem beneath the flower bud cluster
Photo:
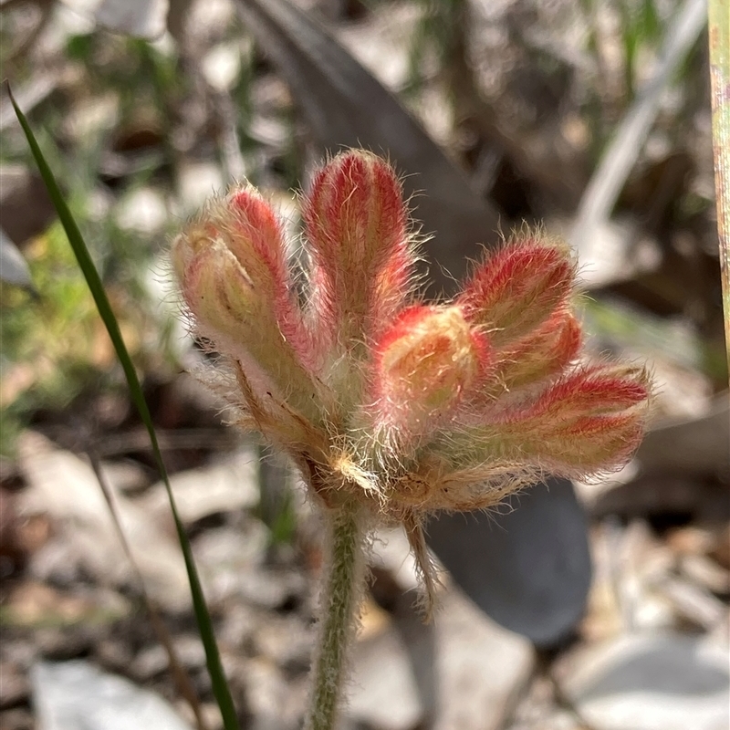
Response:
POLYGON ((358 510, 343 506, 329 512, 328 520, 328 555, 305 730, 335 727, 364 574, 363 528, 358 510))

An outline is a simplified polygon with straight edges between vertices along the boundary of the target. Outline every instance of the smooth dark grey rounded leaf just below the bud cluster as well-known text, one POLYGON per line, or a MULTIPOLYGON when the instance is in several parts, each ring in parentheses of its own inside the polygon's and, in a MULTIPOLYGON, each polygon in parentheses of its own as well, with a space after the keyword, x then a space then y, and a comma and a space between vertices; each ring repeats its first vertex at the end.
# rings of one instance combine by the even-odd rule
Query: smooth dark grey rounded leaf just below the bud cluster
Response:
POLYGON ((429 523, 429 546, 492 619, 540 646, 555 644, 586 606, 585 513, 565 479, 513 495, 499 513, 439 516, 429 523))

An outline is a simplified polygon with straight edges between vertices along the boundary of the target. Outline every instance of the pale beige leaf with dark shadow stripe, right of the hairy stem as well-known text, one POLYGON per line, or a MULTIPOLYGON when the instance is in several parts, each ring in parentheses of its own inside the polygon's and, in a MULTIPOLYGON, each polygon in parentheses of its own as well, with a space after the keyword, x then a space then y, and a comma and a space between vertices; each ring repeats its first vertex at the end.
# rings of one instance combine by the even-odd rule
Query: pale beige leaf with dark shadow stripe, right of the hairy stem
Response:
POLYGON ((432 625, 417 633, 402 627, 394 622, 357 645, 350 720, 379 730, 419 723, 434 730, 504 726, 532 673, 529 641, 498 627, 455 588, 443 593, 432 625), (435 660, 425 681, 414 679, 409 655, 435 660))

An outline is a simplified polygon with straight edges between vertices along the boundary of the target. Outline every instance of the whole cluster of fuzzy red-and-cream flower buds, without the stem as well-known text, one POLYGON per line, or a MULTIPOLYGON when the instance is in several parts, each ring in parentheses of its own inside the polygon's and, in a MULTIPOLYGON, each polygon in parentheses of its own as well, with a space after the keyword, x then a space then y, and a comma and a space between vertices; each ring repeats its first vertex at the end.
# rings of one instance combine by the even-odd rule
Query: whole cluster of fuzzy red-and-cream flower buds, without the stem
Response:
POLYGON ((650 380, 580 363, 566 245, 516 236, 453 300, 425 304, 387 162, 339 154, 302 215, 303 276, 246 186, 188 224, 172 262, 194 326, 233 376, 238 422, 286 450, 325 506, 401 520, 422 555, 433 510, 493 506, 544 471, 585 477, 631 456, 650 380))

